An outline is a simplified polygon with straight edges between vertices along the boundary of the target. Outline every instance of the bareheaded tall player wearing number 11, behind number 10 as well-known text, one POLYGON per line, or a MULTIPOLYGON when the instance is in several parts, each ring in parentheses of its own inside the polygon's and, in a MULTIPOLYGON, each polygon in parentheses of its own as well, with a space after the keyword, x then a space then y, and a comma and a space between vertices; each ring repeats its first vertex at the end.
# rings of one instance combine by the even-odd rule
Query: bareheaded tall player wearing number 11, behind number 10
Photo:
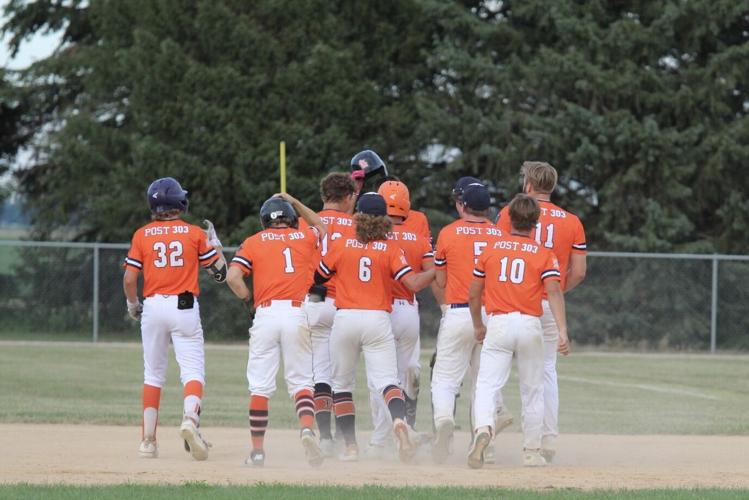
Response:
MULTIPOLYGON (((525 162, 522 167, 523 191, 535 198, 541 215, 531 236, 539 245, 554 252, 562 273, 562 290, 567 292, 585 278, 585 230, 574 214, 550 201, 557 184, 557 171, 545 162, 525 162)), ((497 225, 509 231, 509 208, 502 209, 497 225)), ((559 434, 559 386, 557 384, 557 343, 559 329, 549 307, 546 295, 542 301, 541 326, 544 331, 544 429, 541 453, 551 462, 556 454, 556 437, 559 434)))

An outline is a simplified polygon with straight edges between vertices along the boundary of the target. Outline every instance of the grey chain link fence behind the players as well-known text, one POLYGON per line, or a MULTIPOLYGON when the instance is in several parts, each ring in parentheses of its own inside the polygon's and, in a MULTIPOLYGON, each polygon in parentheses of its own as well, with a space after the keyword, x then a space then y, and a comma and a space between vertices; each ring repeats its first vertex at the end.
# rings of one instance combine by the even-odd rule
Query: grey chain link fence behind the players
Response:
MULTIPOLYGON (((122 341, 127 244, 0 240, 0 339, 122 341)), ((230 256, 234 248, 226 248, 230 256)), ((201 273, 208 341, 247 338, 250 318, 228 287, 201 273)), ((605 349, 749 350, 749 256, 591 252, 588 275, 567 294, 575 343, 605 349)), ((419 294, 422 336, 440 310, 419 294)))

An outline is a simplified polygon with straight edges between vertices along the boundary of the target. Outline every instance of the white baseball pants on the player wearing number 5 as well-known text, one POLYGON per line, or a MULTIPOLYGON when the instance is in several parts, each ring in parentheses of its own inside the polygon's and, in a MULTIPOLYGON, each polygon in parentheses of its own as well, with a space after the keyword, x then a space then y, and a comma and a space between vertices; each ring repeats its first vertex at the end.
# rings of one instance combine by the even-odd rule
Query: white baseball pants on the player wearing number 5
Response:
MULTIPOLYGON (((484 315, 484 322, 486 322, 486 315, 484 315)), ((480 354, 481 344, 477 343, 474 337, 470 310, 467 307, 457 309, 448 307, 440 321, 440 330, 437 334, 437 359, 432 371, 432 406, 435 426, 445 421, 455 423, 453 416, 455 397, 460 393, 460 386, 469 367, 473 387, 475 387, 480 354)), ((471 406, 473 393, 472 388, 469 396, 471 406)), ((501 408, 504 404, 502 392, 497 391, 493 397, 496 398, 494 400, 496 407, 501 408)))

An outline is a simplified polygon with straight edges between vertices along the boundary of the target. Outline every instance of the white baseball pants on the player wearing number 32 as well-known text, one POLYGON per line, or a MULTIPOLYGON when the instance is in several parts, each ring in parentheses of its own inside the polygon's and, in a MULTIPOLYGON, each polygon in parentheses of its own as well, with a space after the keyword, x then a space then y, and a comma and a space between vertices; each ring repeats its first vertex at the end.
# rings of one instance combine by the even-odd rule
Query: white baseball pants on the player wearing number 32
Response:
POLYGON ((140 332, 143 340, 143 381, 146 384, 164 387, 170 338, 182 384, 190 380, 205 384, 203 327, 197 298, 192 309, 177 309, 176 295, 147 297, 143 301, 140 332))

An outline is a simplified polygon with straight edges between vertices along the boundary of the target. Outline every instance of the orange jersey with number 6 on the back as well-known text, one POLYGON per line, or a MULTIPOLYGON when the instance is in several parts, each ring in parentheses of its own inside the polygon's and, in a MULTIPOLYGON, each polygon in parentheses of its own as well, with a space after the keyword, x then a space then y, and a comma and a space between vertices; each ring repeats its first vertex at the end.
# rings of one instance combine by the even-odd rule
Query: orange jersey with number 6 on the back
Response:
POLYGON ((338 277, 335 306, 338 309, 391 311, 393 284, 413 272, 406 256, 390 241, 362 243, 344 237, 328 248, 318 272, 338 277))

